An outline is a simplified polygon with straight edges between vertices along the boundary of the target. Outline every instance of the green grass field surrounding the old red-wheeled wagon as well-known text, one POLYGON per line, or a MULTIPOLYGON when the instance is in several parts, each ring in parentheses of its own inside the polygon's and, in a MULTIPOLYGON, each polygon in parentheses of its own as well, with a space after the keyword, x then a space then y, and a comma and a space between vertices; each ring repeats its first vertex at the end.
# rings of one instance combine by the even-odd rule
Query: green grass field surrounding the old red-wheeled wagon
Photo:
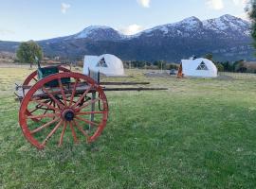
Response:
MULTIPOLYGON (((0 68, 0 188, 255 188, 256 76, 132 77, 161 92, 107 93, 110 118, 92 145, 38 151, 18 124, 14 83, 0 68)), ((228 75, 228 74, 226 74, 228 75)))

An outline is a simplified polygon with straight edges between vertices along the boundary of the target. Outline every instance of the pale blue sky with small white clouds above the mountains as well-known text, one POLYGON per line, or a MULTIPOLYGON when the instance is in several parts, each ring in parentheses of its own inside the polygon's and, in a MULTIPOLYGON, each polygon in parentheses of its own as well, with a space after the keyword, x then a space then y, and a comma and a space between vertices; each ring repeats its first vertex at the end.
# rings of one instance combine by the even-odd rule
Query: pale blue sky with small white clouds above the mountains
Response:
POLYGON ((86 26, 125 33, 180 21, 232 14, 245 18, 247 0, 0 0, 0 40, 44 40, 86 26))

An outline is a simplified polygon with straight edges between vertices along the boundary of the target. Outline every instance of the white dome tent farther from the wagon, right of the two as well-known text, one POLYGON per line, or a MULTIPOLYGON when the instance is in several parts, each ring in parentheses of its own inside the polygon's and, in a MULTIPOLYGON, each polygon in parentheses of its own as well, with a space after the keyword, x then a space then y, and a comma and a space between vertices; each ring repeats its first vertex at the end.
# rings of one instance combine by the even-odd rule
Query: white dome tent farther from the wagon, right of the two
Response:
POLYGON ((181 60, 178 77, 218 77, 218 70, 211 60, 199 58, 181 60))

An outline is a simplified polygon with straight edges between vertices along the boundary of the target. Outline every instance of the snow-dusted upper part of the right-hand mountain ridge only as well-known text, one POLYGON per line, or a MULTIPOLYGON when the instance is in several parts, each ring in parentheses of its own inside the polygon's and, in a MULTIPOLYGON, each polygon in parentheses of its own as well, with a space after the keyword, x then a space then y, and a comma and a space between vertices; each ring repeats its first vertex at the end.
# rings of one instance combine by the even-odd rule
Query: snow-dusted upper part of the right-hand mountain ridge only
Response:
POLYGON ((229 14, 205 21, 200 21, 198 18, 193 16, 174 24, 155 26, 154 28, 147 29, 136 34, 134 37, 152 37, 157 34, 180 37, 192 37, 197 35, 203 37, 207 34, 221 34, 225 38, 229 38, 234 35, 247 37, 250 35, 250 24, 241 18, 237 18, 229 14))

